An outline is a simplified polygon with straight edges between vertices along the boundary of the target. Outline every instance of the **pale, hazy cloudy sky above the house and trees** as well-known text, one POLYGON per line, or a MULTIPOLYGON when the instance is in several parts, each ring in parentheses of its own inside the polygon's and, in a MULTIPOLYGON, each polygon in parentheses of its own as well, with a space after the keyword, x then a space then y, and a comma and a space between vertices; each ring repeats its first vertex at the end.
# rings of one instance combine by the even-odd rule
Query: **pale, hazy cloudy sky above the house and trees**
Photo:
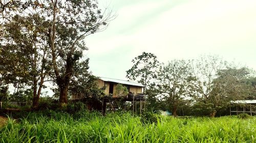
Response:
POLYGON ((256 1, 98 0, 116 18, 86 38, 90 71, 126 79, 136 56, 154 53, 162 63, 217 54, 256 70, 256 1))

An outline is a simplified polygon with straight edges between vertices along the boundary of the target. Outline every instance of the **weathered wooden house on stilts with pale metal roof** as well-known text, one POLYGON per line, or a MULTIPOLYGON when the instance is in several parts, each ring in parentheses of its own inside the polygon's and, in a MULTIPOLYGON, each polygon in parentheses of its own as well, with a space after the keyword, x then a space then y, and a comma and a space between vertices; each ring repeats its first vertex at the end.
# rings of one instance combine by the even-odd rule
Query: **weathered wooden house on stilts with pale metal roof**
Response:
POLYGON ((71 100, 82 101, 87 104, 89 109, 98 109, 105 114, 106 110, 132 110, 133 113, 141 112, 145 96, 143 94, 144 85, 133 81, 126 81, 120 79, 99 77, 97 80, 98 88, 105 87, 102 98, 88 97, 82 93, 72 95, 71 100), (126 87, 128 93, 119 95, 117 91, 118 84, 126 87))

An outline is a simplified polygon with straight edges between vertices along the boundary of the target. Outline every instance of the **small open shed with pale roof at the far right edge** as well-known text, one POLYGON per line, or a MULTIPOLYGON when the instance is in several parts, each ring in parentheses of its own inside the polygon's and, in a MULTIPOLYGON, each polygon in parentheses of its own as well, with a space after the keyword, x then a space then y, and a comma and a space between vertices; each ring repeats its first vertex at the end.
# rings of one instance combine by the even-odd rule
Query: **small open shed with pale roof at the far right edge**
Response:
POLYGON ((256 100, 236 100, 231 101, 230 115, 234 113, 239 115, 240 113, 248 113, 253 116, 256 115, 256 100))

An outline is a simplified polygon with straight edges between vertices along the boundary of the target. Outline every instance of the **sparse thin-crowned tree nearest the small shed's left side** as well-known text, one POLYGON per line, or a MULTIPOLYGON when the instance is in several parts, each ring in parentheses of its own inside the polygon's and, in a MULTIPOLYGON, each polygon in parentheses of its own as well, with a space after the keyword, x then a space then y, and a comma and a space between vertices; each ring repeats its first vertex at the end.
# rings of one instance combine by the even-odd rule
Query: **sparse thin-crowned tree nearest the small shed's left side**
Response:
POLYGON ((214 89, 214 79, 218 78, 218 71, 225 67, 226 62, 215 55, 202 55, 194 63, 194 75, 196 81, 191 88, 197 91, 196 94, 190 94, 198 103, 200 108, 206 108, 210 116, 216 115, 216 108, 214 108, 210 97, 214 89))

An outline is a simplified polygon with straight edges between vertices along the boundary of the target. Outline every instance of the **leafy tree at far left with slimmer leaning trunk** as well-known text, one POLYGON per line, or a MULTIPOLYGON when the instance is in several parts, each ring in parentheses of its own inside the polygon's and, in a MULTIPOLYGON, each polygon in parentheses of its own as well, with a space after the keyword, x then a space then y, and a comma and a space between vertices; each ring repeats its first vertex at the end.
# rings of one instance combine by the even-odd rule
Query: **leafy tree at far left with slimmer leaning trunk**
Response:
POLYGON ((50 49, 46 44, 44 18, 39 13, 19 13, 3 24, 5 31, 0 45, 2 77, 17 92, 28 85, 33 90, 33 108, 37 108, 45 78, 50 74, 50 49))

